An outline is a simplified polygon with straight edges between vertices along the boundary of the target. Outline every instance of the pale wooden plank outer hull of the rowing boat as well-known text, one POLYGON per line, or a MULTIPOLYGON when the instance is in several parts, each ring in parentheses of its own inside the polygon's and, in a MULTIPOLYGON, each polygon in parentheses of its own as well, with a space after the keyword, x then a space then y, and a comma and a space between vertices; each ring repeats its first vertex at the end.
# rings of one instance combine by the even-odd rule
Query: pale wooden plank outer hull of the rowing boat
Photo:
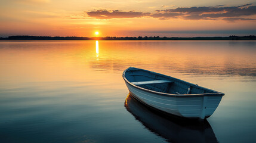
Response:
POLYGON ((143 104, 163 111, 164 113, 190 119, 204 120, 208 118, 214 113, 222 98, 222 96, 214 95, 198 97, 168 96, 165 94, 156 94, 150 90, 142 90, 127 81, 125 83, 131 95, 143 102, 143 104))

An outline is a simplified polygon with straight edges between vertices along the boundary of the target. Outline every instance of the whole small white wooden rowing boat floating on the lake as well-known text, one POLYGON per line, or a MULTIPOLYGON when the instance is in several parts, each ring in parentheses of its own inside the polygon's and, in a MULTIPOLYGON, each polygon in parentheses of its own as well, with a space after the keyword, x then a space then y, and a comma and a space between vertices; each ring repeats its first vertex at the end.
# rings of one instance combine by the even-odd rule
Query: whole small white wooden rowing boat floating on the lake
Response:
POLYGON ((220 104, 223 93, 153 71, 129 67, 123 73, 132 97, 176 117, 205 120, 220 104))

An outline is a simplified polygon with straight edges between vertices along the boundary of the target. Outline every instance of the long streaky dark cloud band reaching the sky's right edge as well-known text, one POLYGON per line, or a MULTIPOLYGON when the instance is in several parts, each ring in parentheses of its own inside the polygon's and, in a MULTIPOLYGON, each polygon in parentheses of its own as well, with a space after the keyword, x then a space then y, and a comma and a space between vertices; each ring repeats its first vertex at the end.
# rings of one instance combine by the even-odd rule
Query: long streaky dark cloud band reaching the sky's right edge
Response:
POLYGON ((226 21, 237 20, 255 20, 254 18, 244 18, 256 14, 256 6, 252 4, 239 5, 237 7, 228 7, 226 5, 217 5, 215 7, 178 7, 166 10, 155 10, 153 13, 143 13, 136 11, 119 10, 97 10, 86 12, 88 17, 98 19, 111 18, 139 18, 152 17, 159 20, 171 18, 181 18, 185 20, 217 20, 226 21))

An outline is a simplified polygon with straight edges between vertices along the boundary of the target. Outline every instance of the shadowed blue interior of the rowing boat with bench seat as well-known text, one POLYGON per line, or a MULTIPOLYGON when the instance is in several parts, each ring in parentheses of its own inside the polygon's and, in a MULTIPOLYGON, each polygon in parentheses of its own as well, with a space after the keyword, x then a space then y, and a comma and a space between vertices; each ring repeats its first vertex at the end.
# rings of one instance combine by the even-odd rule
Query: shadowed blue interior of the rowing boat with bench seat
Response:
POLYGON ((125 71, 125 78, 136 86, 167 94, 217 94, 218 92, 206 89, 174 77, 152 71, 130 68, 125 71))

